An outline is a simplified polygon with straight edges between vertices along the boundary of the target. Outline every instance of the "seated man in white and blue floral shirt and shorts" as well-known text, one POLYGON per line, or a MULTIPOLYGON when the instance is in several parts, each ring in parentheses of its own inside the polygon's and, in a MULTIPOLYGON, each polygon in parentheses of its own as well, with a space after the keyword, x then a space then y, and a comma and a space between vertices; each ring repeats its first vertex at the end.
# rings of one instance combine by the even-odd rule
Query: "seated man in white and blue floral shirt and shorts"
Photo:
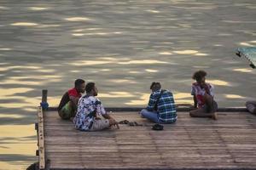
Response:
POLYGON ((73 119, 75 127, 81 131, 99 131, 112 126, 119 128, 118 122, 105 111, 95 82, 88 82, 85 87, 86 95, 79 99, 78 111, 73 119), (98 116, 103 116, 101 119, 98 116))

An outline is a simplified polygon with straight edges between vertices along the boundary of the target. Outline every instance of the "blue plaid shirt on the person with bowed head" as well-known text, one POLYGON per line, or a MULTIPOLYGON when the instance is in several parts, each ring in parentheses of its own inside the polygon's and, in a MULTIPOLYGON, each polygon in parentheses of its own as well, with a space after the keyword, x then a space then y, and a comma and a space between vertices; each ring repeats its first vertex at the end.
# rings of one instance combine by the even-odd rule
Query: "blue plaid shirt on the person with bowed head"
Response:
POLYGON ((154 105, 157 99, 160 97, 157 104, 157 113, 160 121, 162 122, 175 122, 177 119, 177 112, 175 107, 175 102, 173 99, 172 92, 168 90, 163 90, 160 96, 161 89, 155 91, 150 95, 148 101, 148 111, 154 111, 154 105))

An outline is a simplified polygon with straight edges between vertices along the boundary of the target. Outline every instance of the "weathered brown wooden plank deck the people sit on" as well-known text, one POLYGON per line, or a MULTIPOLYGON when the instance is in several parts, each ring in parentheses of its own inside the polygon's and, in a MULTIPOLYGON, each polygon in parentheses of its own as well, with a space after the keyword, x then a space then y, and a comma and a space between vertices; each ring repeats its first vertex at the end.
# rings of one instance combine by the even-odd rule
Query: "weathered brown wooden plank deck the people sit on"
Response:
POLYGON ((113 112, 143 126, 80 132, 56 111, 44 111, 45 160, 50 169, 254 169, 256 116, 219 112, 218 121, 178 112, 177 122, 154 131, 137 112, 113 112))

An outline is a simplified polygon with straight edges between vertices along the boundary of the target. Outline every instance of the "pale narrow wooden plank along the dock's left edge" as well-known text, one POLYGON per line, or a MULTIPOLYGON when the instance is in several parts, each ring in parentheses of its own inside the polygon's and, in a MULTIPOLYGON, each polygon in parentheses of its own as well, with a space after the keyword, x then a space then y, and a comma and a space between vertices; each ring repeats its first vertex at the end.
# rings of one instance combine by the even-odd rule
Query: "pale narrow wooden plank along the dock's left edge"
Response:
POLYGON ((44 169, 44 116, 42 107, 38 107, 38 150, 39 150, 39 168, 44 169))

